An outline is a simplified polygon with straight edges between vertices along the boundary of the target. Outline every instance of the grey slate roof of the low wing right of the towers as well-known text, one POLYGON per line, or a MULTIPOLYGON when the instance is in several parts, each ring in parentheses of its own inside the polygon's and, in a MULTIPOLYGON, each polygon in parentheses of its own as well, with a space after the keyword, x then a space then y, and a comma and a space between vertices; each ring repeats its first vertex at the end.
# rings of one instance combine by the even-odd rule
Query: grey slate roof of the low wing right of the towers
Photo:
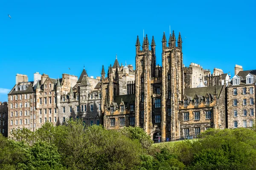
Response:
POLYGON ((194 99, 195 94, 198 96, 205 96, 207 93, 212 96, 212 94, 215 94, 215 87, 216 91, 219 97, 219 94, 221 94, 221 91, 224 87, 224 85, 218 85, 218 86, 209 86, 209 87, 203 87, 203 88, 185 88, 184 92, 187 98, 194 99))

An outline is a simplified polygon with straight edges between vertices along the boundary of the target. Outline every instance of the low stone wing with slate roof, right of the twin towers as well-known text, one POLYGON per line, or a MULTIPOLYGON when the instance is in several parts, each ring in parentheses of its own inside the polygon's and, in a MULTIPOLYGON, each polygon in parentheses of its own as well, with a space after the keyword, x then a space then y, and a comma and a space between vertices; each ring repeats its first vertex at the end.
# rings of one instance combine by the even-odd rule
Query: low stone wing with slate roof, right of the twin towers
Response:
MULTIPOLYGON (((180 137, 197 137, 208 128, 224 129, 225 114, 224 85, 185 89, 179 103, 180 137)), ((170 131, 171 122, 167 123, 170 131)))

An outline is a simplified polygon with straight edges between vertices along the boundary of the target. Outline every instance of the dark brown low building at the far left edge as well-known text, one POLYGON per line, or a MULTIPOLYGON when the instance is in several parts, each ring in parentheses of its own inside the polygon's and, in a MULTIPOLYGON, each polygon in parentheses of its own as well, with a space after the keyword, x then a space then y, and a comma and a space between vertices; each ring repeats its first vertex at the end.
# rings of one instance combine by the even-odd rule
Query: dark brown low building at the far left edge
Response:
POLYGON ((7 137, 8 135, 8 104, 0 102, 0 133, 7 137))

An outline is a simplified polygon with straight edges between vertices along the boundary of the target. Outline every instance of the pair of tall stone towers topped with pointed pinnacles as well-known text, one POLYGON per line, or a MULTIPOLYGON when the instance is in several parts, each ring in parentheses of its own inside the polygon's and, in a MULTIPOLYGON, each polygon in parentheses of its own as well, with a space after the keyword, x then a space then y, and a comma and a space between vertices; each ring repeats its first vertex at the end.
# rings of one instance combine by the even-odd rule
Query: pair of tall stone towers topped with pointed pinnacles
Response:
POLYGON ((182 39, 176 46, 175 33, 162 39, 162 67, 156 65, 154 36, 149 50, 146 35, 142 50, 136 41, 135 124, 156 140, 176 140, 180 136, 179 101, 184 95, 182 39))

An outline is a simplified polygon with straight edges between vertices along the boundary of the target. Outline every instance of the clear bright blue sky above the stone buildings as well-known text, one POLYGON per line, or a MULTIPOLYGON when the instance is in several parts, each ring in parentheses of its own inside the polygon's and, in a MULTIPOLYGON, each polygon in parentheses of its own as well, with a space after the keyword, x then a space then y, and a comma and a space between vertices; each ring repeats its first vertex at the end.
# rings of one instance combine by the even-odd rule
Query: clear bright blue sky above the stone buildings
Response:
POLYGON ((0 101, 7 100, 17 73, 29 81, 35 72, 79 76, 85 65, 96 77, 102 65, 113 65, 116 53, 120 64, 135 65, 143 29, 150 42, 154 35, 160 65, 163 31, 171 26, 176 39, 182 35, 186 66, 195 62, 232 75, 235 64, 256 69, 255 11, 254 0, 1 0, 0 101))

